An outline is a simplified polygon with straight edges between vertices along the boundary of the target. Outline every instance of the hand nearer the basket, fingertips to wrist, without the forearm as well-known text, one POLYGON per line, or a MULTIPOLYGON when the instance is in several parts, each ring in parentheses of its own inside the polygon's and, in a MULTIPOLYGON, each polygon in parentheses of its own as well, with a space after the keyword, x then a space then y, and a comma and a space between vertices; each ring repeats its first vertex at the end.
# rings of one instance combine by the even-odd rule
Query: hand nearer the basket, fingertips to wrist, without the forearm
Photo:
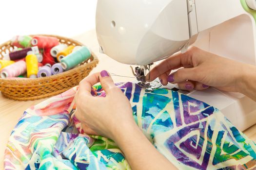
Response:
POLYGON ((115 139, 118 130, 137 126, 129 100, 116 87, 107 71, 83 79, 75 96, 75 115, 88 135, 101 135, 115 139), (100 82, 106 97, 91 95, 91 87, 100 82))

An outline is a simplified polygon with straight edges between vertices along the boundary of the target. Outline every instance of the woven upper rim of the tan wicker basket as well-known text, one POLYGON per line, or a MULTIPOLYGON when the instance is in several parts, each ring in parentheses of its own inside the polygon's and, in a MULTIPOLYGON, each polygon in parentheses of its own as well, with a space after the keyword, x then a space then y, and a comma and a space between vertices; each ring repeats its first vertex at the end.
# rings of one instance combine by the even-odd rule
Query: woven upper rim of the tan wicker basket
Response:
MULTIPOLYGON (((80 46, 85 46, 84 44, 80 43, 79 41, 77 40, 74 40, 72 38, 66 38, 66 37, 63 37, 63 36, 59 36, 59 35, 53 35, 53 34, 33 34, 33 35, 30 35, 30 36, 53 36, 53 37, 57 37, 59 39, 70 39, 72 40, 73 42, 79 44, 80 46)), ((0 47, 2 46, 6 46, 6 45, 9 45, 11 42, 11 40, 9 41, 6 41, 2 44, 0 44, 0 47)), ((64 77, 64 76, 68 76, 68 75, 72 75, 72 73, 74 72, 77 72, 79 71, 80 69, 86 67, 88 64, 93 64, 94 62, 97 62, 98 63, 98 57, 95 55, 94 52, 92 52, 91 54, 91 61, 89 63, 84 63, 84 64, 81 64, 75 68, 72 68, 70 70, 67 70, 67 71, 64 71, 62 73, 59 73, 59 74, 55 74, 55 75, 51 75, 51 76, 48 76, 48 77, 40 77, 40 78, 36 78, 36 79, 30 79, 30 78, 25 78, 25 79, 3 79, 3 78, 0 78, 0 83, 1 82, 10 82, 10 83, 22 83, 23 85, 26 85, 26 84, 31 84, 31 83, 40 83, 40 82, 45 82, 47 80, 50 80, 50 79, 58 79, 58 78, 61 78, 61 77, 64 77)), ((1 84, 0 84, 1 85, 1 84)))

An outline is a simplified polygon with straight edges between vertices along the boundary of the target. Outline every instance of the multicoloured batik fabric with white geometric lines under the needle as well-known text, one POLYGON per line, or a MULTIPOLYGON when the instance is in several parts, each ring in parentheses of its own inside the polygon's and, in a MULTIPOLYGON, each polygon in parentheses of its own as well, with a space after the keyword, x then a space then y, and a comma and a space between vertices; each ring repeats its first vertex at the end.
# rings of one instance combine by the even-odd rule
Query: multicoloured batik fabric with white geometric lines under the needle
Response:
MULTIPOLYGON (((168 89, 117 86, 138 127, 178 169, 256 169, 255 143, 213 106, 168 89)), ((74 116, 76 92, 74 87, 24 112, 5 150, 6 170, 130 170, 113 140, 84 134, 74 116)), ((105 92, 98 85, 92 95, 105 92)))

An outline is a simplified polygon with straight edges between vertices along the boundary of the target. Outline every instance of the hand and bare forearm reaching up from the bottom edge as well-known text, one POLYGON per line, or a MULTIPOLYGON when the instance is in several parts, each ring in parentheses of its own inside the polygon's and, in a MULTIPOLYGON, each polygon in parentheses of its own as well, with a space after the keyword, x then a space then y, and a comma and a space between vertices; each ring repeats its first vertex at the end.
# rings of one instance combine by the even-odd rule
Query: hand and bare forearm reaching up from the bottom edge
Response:
POLYGON ((133 170, 176 169, 138 128, 129 100, 115 86, 107 71, 83 79, 75 101, 75 114, 85 133, 113 139, 133 170), (91 87, 98 82, 106 92, 105 98, 91 95, 91 87))

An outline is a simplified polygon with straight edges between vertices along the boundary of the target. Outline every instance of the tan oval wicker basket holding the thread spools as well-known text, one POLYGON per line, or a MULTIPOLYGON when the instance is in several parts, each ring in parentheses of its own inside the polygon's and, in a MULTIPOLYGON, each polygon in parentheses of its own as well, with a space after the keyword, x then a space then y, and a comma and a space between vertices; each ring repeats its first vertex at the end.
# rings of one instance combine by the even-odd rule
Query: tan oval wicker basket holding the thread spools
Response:
MULTIPOLYGON (((73 39, 57 35, 45 36, 57 37, 59 42, 63 44, 82 46, 81 43, 73 39)), ((11 45, 11 41, 1 44, 0 59, 2 59, 2 56, 5 53, 13 50, 14 47, 11 45)), ((54 96, 70 89, 71 87, 79 85, 79 82, 86 77, 97 64, 98 58, 94 53, 92 53, 91 58, 81 63, 78 67, 49 77, 15 80, 0 78, 0 91, 5 97, 18 101, 36 100, 54 96)))

